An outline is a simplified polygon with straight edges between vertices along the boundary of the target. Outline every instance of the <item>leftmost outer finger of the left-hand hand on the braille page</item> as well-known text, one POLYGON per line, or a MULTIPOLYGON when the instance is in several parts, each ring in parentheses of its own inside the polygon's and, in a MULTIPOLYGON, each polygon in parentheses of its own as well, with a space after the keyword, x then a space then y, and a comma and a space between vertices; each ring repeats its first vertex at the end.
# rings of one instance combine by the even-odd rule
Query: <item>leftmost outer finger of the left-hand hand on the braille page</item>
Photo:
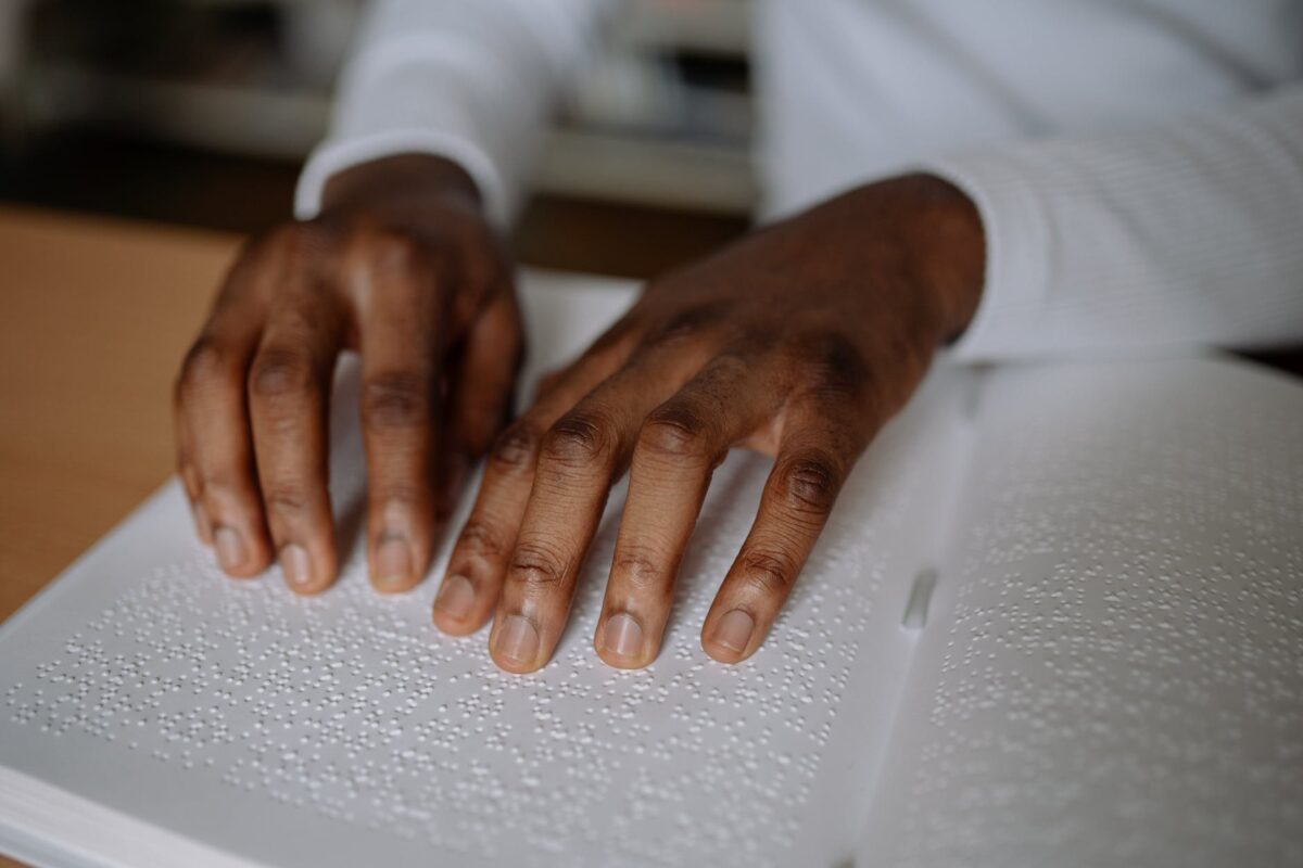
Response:
POLYGON ((179 470, 195 526, 220 567, 240 578, 271 560, 245 407, 255 321, 249 303, 219 306, 186 353, 175 390, 179 470))

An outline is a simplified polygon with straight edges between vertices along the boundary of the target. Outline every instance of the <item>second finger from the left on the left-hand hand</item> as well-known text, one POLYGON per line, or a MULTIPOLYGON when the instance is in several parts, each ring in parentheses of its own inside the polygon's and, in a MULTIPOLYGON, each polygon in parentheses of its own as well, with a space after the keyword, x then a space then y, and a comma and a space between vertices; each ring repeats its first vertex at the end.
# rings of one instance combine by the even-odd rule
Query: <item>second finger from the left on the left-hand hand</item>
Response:
POLYGON ((258 480, 285 582, 317 593, 335 580, 327 491, 327 409, 343 314, 304 272, 278 294, 249 368, 249 415, 258 480))

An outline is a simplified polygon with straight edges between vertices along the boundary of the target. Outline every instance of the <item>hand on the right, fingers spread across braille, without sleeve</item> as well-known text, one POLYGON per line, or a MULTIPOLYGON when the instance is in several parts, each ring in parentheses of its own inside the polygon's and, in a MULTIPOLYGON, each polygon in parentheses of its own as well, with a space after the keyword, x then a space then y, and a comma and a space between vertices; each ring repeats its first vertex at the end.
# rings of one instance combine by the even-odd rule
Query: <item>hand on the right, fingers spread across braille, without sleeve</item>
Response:
POLYGON ((612 481, 629 468, 594 644, 622 668, 661 647, 684 547, 734 445, 775 455, 760 514, 702 625, 737 662, 764 642, 838 489, 981 292, 981 224, 933 177, 861 187, 648 286, 549 377, 490 450, 435 600, 466 634, 496 612, 499 666, 552 653, 612 481))

